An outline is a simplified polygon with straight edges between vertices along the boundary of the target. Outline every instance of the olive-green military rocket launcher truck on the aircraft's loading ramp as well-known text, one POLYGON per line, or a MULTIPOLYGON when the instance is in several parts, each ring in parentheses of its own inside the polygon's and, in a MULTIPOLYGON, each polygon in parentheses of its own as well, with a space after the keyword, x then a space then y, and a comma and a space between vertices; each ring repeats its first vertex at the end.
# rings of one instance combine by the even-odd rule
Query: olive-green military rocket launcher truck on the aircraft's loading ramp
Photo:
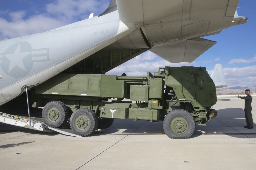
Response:
POLYGON ((31 94, 33 107, 44 107, 48 126, 58 128, 69 120, 81 136, 129 118, 163 121, 170 138, 189 138, 195 122, 206 125, 217 116, 211 109, 216 88, 205 67, 165 67, 145 77, 60 73, 31 88, 31 94))

